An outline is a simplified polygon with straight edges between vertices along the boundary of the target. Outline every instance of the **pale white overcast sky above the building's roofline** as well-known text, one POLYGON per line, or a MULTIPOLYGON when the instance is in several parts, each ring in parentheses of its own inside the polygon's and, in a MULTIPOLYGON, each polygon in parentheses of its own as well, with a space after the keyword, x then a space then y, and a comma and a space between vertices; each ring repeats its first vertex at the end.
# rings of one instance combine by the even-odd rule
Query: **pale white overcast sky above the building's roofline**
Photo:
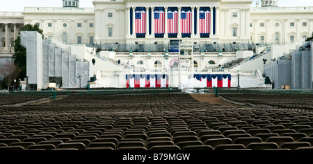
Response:
MULTIPOLYGON (((191 0, 192 1, 192 0, 191 0)), ((252 7, 255 7, 253 0, 252 7)), ((81 8, 93 8, 93 0, 80 0, 81 8)), ((279 6, 313 6, 313 0, 279 0, 279 6)), ((0 12, 22 12, 24 7, 62 7, 62 0, 0 0, 0 12)))

